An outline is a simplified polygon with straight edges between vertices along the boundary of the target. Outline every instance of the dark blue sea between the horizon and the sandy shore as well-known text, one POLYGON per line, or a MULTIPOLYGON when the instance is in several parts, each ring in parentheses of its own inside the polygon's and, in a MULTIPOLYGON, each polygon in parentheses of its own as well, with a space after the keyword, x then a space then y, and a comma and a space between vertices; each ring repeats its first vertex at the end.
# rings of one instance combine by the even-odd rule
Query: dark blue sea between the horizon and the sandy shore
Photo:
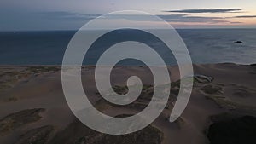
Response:
MULTIPOLYGON (((187 45, 193 63, 256 63, 256 29, 178 29, 177 32, 187 45), (242 43, 234 43, 235 41, 242 43)), ((67 44, 74 33, 75 31, 0 32, 0 65, 61 65, 67 44)), ((100 55, 101 47, 108 45, 111 39, 113 38, 110 37, 90 50, 87 55, 89 59, 84 64, 96 64, 97 56, 94 55, 100 55)), ((166 53, 164 57, 167 65, 176 65, 172 55, 166 53)), ((140 64, 134 60, 119 63, 140 64)))

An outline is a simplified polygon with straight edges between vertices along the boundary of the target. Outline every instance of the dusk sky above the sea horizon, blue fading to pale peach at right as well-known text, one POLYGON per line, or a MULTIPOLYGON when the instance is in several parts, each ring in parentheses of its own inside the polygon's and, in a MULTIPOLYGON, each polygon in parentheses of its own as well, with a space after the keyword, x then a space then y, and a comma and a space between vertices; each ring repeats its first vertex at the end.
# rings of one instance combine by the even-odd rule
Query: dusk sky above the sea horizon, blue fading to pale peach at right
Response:
POLYGON ((119 10, 155 14, 176 28, 256 28, 256 0, 1 0, 0 31, 78 30, 119 10))

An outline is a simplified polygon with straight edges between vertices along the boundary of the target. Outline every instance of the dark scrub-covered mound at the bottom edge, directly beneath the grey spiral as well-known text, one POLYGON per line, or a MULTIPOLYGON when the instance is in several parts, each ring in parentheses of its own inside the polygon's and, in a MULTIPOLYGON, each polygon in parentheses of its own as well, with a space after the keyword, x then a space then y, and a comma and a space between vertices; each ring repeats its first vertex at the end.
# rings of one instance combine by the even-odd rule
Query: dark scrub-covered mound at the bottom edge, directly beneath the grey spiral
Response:
POLYGON ((75 120, 65 130, 58 132, 49 144, 63 143, 63 141, 65 144, 160 144, 162 140, 163 133, 151 125, 127 135, 107 135, 90 130, 79 120, 75 120))

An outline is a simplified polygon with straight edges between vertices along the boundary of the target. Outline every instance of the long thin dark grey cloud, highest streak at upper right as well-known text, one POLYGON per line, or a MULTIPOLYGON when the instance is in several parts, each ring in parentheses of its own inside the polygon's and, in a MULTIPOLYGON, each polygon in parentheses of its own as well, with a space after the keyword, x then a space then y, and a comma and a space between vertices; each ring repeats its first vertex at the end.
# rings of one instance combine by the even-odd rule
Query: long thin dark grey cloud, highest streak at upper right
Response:
POLYGON ((242 9, 180 9, 165 12, 175 13, 239 13, 242 9))

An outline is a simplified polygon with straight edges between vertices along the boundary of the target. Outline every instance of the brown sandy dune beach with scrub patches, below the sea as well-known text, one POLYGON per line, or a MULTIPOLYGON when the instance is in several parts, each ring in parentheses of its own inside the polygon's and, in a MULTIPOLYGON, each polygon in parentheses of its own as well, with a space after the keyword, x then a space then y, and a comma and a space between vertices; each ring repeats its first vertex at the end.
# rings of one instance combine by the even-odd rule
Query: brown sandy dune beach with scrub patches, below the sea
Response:
MULTIPOLYGON (((172 90, 165 110, 147 128, 128 135, 106 135, 81 124, 67 105, 61 86, 61 66, 0 66, 0 143, 190 143, 206 144, 211 124, 256 116, 256 66, 234 63, 195 64, 195 78, 189 104, 182 116, 170 123, 166 118, 176 100, 179 72, 168 66, 172 90), (148 135, 148 136, 145 136, 148 135)), ((122 93, 125 79, 137 75, 145 84, 139 101, 128 107, 109 104, 98 94, 94 66, 83 66, 82 81, 86 95, 102 112, 114 117, 133 115, 146 107, 152 75, 145 66, 115 66, 112 83, 122 93)))

